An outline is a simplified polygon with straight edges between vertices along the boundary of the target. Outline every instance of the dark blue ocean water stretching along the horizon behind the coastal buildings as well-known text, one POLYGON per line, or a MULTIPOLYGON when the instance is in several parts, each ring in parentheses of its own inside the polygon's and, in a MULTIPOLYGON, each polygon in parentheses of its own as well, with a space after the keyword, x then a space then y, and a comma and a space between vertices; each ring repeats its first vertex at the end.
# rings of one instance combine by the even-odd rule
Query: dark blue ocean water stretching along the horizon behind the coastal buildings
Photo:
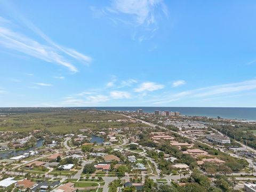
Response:
POLYGON ((256 108, 245 107, 82 107, 84 109, 115 110, 115 111, 135 111, 142 109, 147 113, 160 111, 179 111, 181 115, 188 116, 207 116, 226 119, 239 119, 247 121, 256 121, 256 108))

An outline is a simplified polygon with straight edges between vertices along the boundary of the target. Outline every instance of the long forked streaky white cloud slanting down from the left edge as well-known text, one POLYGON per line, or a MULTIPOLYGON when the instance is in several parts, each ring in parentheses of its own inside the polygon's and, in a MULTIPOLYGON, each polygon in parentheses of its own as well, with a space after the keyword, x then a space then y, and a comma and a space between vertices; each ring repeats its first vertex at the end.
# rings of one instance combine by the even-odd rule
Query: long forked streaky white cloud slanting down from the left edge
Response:
POLYGON ((34 26, 33 23, 22 16, 21 18, 23 23, 25 23, 29 29, 33 30, 37 35, 46 41, 46 44, 39 43, 26 35, 12 30, 10 27, 6 27, 6 25, 3 25, 3 22, 0 22, 0 45, 6 47, 7 49, 22 52, 47 62, 57 63, 58 65, 65 66, 74 73, 76 73, 78 69, 70 61, 68 61, 67 57, 76 59, 78 61, 83 61, 85 63, 91 62, 91 57, 79 53, 74 49, 58 45, 36 26, 34 26))

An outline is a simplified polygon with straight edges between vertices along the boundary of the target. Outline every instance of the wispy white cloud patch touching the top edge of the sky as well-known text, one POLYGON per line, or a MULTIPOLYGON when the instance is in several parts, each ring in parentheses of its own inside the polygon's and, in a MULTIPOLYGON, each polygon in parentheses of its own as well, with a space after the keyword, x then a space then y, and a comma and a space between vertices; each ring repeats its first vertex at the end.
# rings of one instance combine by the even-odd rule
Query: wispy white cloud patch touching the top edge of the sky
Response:
POLYGON ((159 28, 157 21, 162 15, 169 15, 164 0, 112 0, 103 10, 94 7, 92 12, 103 12, 115 25, 128 26, 132 29, 131 38, 140 43, 154 37, 159 28))

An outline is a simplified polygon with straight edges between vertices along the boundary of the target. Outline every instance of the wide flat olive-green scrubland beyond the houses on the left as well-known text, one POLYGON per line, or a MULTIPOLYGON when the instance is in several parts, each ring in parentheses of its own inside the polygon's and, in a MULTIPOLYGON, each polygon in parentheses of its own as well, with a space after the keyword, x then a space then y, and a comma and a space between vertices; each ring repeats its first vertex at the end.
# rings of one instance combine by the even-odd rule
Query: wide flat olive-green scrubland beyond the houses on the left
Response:
POLYGON ((48 130, 57 133, 70 133, 80 129, 102 129, 108 127, 137 127, 141 124, 108 122, 108 120, 126 119, 113 113, 86 110, 59 110, 41 113, 19 113, 0 117, 0 131, 33 131, 48 130), (94 121, 94 122, 93 122, 94 121), (97 123, 95 121, 103 121, 97 123))

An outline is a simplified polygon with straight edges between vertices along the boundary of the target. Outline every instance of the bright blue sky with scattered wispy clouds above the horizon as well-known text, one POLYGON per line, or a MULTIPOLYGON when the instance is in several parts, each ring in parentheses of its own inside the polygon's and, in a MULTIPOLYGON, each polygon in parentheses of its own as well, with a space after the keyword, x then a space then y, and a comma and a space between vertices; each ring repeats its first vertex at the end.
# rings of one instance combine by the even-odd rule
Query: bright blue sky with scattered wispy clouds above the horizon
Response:
POLYGON ((256 107, 255 1, 0 1, 0 107, 256 107))

